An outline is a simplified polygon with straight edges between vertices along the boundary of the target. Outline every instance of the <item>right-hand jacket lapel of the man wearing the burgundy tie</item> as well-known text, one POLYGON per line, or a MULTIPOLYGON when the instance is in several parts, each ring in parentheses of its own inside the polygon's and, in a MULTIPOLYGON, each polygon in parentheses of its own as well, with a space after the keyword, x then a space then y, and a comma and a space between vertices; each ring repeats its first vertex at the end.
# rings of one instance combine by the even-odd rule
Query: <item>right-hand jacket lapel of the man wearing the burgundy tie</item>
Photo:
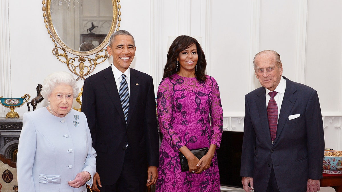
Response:
POLYGON ((284 79, 286 80, 286 89, 284 93, 284 98, 282 99, 280 114, 278 118, 277 135, 274 142, 277 141, 277 138, 281 134, 281 131, 288 120, 288 116, 293 108, 293 105, 297 100, 297 97, 294 95, 294 92, 297 91, 297 88, 294 86, 292 81, 286 79, 285 77, 284 79))

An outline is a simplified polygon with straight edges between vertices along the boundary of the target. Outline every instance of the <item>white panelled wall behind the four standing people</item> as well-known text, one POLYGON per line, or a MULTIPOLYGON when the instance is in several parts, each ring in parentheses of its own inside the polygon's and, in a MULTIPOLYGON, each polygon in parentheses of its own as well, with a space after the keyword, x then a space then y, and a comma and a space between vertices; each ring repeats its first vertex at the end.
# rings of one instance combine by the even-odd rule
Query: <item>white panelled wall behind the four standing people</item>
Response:
MULTIPOLYGON (((284 76, 317 90, 326 147, 342 150, 340 0, 123 0, 120 4, 120 29, 130 31, 136 41, 132 67, 150 74, 156 90, 168 37, 201 37, 207 73, 220 85, 224 129, 242 131, 244 96, 260 86, 252 59, 259 51, 272 49, 281 55, 284 76)), ((1 10, 0 96, 35 97, 35 87, 47 74, 68 69, 52 54, 41 1, 2 0, 1 10)), ((98 65, 95 72, 110 63, 98 65)), ((45 105, 47 101, 38 107, 45 105)), ((27 107, 16 111, 23 115, 27 107)))

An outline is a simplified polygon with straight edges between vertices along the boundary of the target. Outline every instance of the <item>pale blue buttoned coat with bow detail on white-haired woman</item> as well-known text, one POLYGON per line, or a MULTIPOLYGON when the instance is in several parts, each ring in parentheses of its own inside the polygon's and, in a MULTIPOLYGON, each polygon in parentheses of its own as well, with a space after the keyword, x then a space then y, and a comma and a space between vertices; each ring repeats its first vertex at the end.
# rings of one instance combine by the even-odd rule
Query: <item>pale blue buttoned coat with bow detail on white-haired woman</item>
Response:
MULTIPOLYGON (((83 112, 71 111, 63 118, 45 107, 23 116, 19 138, 17 176, 19 192, 84 192, 67 181, 87 171, 95 174, 96 152, 83 112)), ((87 184, 92 184, 92 179, 87 184)))

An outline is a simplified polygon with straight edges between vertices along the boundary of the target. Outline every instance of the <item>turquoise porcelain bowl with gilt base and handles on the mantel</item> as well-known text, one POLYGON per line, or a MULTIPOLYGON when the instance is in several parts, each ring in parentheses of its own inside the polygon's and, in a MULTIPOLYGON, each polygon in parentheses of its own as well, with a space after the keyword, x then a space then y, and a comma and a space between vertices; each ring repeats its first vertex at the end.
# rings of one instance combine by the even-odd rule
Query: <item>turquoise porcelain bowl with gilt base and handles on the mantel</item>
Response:
POLYGON ((10 108, 10 112, 6 114, 6 118, 19 118, 19 114, 14 111, 14 108, 22 106, 24 103, 26 103, 30 99, 29 94, 25 94, 21 98, 2 98, 0 97, 0 104, 4 107, 10 108))

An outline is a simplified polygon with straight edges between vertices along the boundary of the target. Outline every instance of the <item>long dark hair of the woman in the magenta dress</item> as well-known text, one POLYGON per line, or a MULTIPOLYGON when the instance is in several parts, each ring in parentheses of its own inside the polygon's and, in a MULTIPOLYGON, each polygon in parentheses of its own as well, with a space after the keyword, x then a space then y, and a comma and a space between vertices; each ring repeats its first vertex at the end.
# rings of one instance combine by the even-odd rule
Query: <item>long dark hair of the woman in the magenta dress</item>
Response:
POLYGON ((196 79, 198 81, 205 81, 206 78, 206 68, 207 68, 207 60, 204 55, 204 52, 202 50, 201 45, 198 43, 198 41, 195 38, 182 35, 178 36, 171 44, 168 52, 168 57, 166 60, 166 65, 164 67, 164 75, 163 79, 170 77, 171 75, 177 73, 180 70, 180 67, 177 69, 177 57, 180 52, 183 50, 189 48, 193 44, 196 44, 197 49, 197 70, 195 70, 196 79))

